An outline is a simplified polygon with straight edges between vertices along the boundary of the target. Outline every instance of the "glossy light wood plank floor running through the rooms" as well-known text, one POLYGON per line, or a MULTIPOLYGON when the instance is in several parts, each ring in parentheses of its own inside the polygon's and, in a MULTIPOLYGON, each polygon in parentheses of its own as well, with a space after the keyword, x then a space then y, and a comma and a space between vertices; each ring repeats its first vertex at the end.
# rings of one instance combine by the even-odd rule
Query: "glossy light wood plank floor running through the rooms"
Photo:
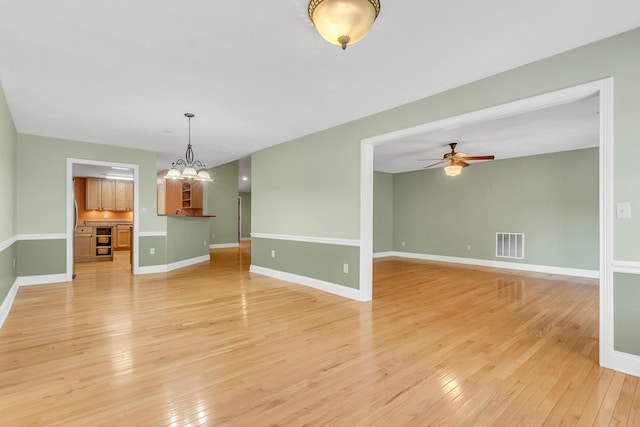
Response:
POLYGON ((390 258, 358 303, 212 253, 20 288, 0 424, 640 425, 638 378, 598 366, 592 281, 390 258))

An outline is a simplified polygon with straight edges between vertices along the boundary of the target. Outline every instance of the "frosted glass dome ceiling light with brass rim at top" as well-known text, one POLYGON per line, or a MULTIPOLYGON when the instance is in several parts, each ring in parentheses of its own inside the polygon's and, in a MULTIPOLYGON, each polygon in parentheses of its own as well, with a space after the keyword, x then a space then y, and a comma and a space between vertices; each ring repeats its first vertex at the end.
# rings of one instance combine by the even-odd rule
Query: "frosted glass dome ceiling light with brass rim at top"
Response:
POLYGON ((311 0, 309 18, 329 43, 342 46, 359 42, 380 13, 380 0, 311 0))

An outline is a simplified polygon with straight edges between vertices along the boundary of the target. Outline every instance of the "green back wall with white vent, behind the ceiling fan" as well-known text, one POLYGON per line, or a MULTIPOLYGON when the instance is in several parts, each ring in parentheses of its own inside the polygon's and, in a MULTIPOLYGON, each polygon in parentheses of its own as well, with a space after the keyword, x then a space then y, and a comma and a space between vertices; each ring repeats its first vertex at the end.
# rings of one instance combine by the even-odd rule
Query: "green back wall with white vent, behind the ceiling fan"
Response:
POLYGON ((598 179, 597 148, 396 174, 393 250, 598 270, 598 179), (524 259, 497 258, 497 232, 524 233, 524 259))

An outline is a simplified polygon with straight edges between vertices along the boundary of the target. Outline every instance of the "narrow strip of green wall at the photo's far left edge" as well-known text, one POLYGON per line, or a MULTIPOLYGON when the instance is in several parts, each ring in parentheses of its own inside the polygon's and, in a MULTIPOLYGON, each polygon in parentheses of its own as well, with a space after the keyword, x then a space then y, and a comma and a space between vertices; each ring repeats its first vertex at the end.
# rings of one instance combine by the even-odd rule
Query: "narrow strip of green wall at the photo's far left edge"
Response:
POLYGON ((17 234, 17 158, 18 135, 0 85, 0 303, 17 277, 17 244, 3 244, 17 234), (14 267, 14 261, 16 266, 14 267))

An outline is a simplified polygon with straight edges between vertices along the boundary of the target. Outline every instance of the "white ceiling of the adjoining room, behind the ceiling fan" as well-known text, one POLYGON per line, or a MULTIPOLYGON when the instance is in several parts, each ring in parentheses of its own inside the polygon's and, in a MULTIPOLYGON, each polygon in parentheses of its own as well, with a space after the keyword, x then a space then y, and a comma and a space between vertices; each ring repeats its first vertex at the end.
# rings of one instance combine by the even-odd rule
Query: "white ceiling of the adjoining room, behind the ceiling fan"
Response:
MULTIPOLYGON (((496 160, 597 147, 599 98, 588 98, 456 129, 420 133, 376 147, 374 169, 398 173, 422 169, 456 151, 496 160), (431 159, 420 161, 419 159, 431 159)), ((477 163, 473 161, 469 163, 477 163)), ((448 165, 440 164, 434 167, 448 165)))

